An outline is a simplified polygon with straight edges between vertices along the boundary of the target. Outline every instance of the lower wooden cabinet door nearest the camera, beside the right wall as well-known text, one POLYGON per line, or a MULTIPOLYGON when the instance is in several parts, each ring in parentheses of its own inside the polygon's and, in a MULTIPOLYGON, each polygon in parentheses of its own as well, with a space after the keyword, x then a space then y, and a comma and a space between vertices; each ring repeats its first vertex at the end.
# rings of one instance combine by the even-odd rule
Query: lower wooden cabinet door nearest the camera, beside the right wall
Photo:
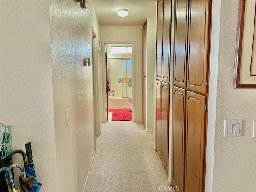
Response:
POLYGON ((185 191, 204 191, 206 96, 186 94, 185 191))

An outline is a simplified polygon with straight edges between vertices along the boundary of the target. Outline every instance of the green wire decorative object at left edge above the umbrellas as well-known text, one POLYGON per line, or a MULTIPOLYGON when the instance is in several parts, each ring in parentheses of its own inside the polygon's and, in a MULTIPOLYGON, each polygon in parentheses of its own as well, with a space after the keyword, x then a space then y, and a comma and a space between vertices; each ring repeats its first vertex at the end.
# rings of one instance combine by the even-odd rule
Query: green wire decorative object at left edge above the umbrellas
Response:
POLYGON ((0 148, 0 156, 1 160, 4 159, 10 152, 12 152, 12 134, 11 134, 11 126, 3 125, 0 123, 1 128, 1 148, 0 148))

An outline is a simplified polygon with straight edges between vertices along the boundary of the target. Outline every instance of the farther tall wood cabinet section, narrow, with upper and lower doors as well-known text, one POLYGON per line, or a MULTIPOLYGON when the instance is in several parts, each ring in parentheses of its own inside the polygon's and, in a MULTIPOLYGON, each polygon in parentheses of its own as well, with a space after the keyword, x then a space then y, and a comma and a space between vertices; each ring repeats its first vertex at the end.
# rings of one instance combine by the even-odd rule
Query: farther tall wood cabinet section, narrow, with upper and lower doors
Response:
POLYGON ((167 172, 169 162, 171 2, 158 1, 156 30, 156 150, 167 172))

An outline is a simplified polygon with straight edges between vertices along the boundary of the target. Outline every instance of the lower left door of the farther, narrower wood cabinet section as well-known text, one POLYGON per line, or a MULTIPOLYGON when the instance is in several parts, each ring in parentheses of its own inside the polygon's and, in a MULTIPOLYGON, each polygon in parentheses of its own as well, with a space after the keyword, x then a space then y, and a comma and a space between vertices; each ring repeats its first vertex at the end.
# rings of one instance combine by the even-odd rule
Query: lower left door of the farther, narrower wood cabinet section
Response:
POLYGON ((156 81, 156 151, 161 157, 161 82, 156 81))

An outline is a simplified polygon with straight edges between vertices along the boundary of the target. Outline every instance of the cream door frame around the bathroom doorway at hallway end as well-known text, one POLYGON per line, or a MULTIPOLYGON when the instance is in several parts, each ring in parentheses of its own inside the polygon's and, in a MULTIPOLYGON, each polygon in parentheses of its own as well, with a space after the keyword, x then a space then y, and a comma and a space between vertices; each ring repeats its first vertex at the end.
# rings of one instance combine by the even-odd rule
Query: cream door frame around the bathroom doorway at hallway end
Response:
MULTIPOLYGON (((136 81, 135 77, 135 42, 134 41, 103 41, 101 43, 102 50, 105 50, 105 44, 132 44, 132 121, 135 121, 135 86, 134 83, 136 81)), ((101 64, 101 76, 102 76, 102 85, 100 87, 101 90, 104 90, 106 92, 106 62, 105 62, 105 51, 102 51, 102 64, 101 64)), ((102 92, 104 93, 104 92, 102 92)), ((107 97, 108 94, 102 94, 100 96, 100 99, 104 101, 104 109, 108 108, 107 106, 107 97)), ((106 111, 106 110, 105 110, 106 111)), ((104 110, 101 111, 101 116, 104 116, 104 122, 107 122, 107 115, 105 114, 104 110)))

